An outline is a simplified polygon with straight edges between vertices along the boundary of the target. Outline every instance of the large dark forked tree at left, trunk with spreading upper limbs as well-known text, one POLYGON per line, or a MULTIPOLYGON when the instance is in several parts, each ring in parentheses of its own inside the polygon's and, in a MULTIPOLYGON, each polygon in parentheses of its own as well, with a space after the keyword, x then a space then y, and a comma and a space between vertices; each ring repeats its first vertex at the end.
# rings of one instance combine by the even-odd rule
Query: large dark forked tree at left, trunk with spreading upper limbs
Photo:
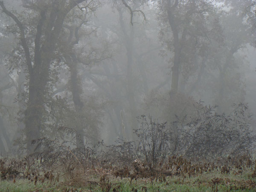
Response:
MULTIPOLYGON (((67 14, 75 7, 83 3, 87 7, 87 0, 47 0, 23 1, 27 8, 29 21, 24 17, 18 17, 6 9, 3 1, 0 1, 2 11, 11 17, 18 31, 16 36, 22 47, 21 54, 25 58, 25 66, 28 72, 28 100, 25 110, 25 133, 28 153, 31 153, 32 140, 41 137, 43 129, 43 114, 47 84, 49 83, 51 64, 56 62, 55 49, 59 35, 67 14), (32 23, 32 25, 28 25, 32 23)), ((80 7, 80 6, 79 6, 80 7)), ((81 10, 83 9, 81 8, 81 10)))

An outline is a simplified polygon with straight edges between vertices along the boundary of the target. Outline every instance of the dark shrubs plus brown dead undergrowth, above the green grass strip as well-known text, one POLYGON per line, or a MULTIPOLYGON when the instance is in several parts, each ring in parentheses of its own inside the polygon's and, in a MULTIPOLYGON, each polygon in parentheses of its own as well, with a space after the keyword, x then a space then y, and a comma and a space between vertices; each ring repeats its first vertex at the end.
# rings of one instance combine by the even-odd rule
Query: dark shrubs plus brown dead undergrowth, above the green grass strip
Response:
MULTIPOLYGON (((150 115, 138 117, 140 127, 134 130, 136 141, 119 139, 109 146, 102 141, 81 149, 76 148, 75 141, 64 137, 35 140, 35 153, 18 160, 1 158, 1 178, 19 176, 36 183, 53 177, 58 180, 61 172, 67 179, 73 179, 88 168, 112 170, 116 177, 130 177, 131 180, 155 178, 157 174, 185 178, 202 173, 204 169, 221 169, 228 173, 232 167, 238 171, 243 166, 251 167, 254 160, 250 153, 256 135, 250 126, 247 106, 234 105, 228 115, 218 114, 216 107, 197 106, 197 116, 177 118, 171 124, 159 123, 150 115), (173 137, 175 129, 177 138, 173 137), (177 140, 176 148, 173 140, 177 140)), ((61 127, 58 131, 75 135, 76 130, 61 127)))

